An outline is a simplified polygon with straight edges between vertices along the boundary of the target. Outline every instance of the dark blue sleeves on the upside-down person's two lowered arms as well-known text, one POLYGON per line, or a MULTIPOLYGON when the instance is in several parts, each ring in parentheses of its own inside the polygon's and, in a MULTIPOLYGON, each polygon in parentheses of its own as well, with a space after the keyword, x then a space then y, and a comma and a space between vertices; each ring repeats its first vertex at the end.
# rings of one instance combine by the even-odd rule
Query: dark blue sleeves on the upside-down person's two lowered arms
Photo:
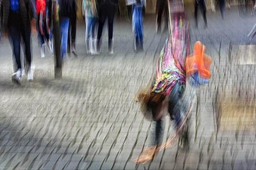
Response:
MULTIPOLYGON (((180 116, 180 98, 182 96, 182 92, 180 91, 180 83, 176 83, 173 87, 171 93, 168 96, 168 112, 170 114, 171 119, 175 119, 175 127, 177 127, 181 120, 182 116, 180 116)), ((163 139, 163 122, 161 120, 162 115, 160 111, 161 106, 152 110, 152 116, 154 122, 151 125, 150 129, 150 138, 151 143, 149 145, 157 145, 162 142, 163 139)))

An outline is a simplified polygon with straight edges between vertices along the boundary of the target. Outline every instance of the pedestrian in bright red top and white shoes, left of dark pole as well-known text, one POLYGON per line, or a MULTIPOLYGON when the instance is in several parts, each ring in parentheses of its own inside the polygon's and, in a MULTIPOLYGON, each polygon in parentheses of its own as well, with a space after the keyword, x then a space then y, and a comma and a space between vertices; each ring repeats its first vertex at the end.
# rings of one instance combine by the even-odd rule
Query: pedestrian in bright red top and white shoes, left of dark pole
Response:
POLYGON ((49 39, 51 24, 52 0, 36 0, 36 10, 38 14, 38 37, 41 44, 41 58, 45 57, 45 45, 53 55, 52 41, 49 39))

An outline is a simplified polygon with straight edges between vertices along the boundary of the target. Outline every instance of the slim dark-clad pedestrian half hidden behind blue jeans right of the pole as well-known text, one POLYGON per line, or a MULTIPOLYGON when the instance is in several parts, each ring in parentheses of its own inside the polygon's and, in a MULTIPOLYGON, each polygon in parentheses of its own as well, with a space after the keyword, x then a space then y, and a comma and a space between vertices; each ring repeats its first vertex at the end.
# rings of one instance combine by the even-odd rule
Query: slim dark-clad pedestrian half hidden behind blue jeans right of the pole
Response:
POLYGON ((75 57, 77 57, 76 54, 76 12, 77 12, 77 5, 76 1, 73 1, 73 13, 70 16, 70 23, 68 28, 68 38, 67 38, 67 51, 70 53, 70 47, 71 52, 74 54, 75 57), (70 46, 71 41, 71 46, 70 46))

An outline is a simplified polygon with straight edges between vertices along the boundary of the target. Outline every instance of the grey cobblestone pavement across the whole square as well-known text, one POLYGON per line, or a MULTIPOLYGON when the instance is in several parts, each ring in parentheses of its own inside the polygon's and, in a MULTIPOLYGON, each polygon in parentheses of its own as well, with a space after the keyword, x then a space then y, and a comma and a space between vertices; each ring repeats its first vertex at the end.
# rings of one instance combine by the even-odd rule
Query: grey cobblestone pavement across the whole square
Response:
MULTIPOLYGON (((192 11, 188 12, 191 17, 192 11)), ((213 58, 209 85, 195 92, 197 102, 189 126, 189 149, 159 152, 147 164, 134 164, 148 141, 151 121, 143 118, 136 96, 150 82, 167 32, 155 34, 154 16, 144 20, 144 52, 134 53, 131 23, 117 19, 114 55, 86 54, 84 24, 78 27, 78 58, 71 56, 63 78, 54 79, 54 60, 40 58, 32 37, 34 82, 13 85, 12 52, 0 46, 1 170, 170 170, 256 169, 255 39, 246 35, 255 23, 238 8, 207 13, 208 29, 191 17, 191 46, 206 45, 213 58), (251 45, 249 45, 251 44, 251 45), (221 118, 221 119, 219 119, 221 118), (216 121, 218 120, 218 121, 216 121), (195 140, 196 139, 196 140, 195 140)), ((105 30, 105 34, 106 34, 105 30)), ((192 88, 187 87, 190 91, 192 88)), ((172 131, 166 117, 164 139, 172 131)))

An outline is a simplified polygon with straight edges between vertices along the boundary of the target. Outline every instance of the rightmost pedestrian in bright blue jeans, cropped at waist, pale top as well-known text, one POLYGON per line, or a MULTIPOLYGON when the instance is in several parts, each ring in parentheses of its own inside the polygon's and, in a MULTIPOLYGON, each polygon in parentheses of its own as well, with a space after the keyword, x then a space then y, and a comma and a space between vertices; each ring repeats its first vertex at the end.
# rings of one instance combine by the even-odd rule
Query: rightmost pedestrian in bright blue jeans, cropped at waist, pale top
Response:
POLYGON ((143 8, 146 6, 146 0, 135 0, 132 5, 132 28, 134 31, 135 51, 143 51, 143 8))

